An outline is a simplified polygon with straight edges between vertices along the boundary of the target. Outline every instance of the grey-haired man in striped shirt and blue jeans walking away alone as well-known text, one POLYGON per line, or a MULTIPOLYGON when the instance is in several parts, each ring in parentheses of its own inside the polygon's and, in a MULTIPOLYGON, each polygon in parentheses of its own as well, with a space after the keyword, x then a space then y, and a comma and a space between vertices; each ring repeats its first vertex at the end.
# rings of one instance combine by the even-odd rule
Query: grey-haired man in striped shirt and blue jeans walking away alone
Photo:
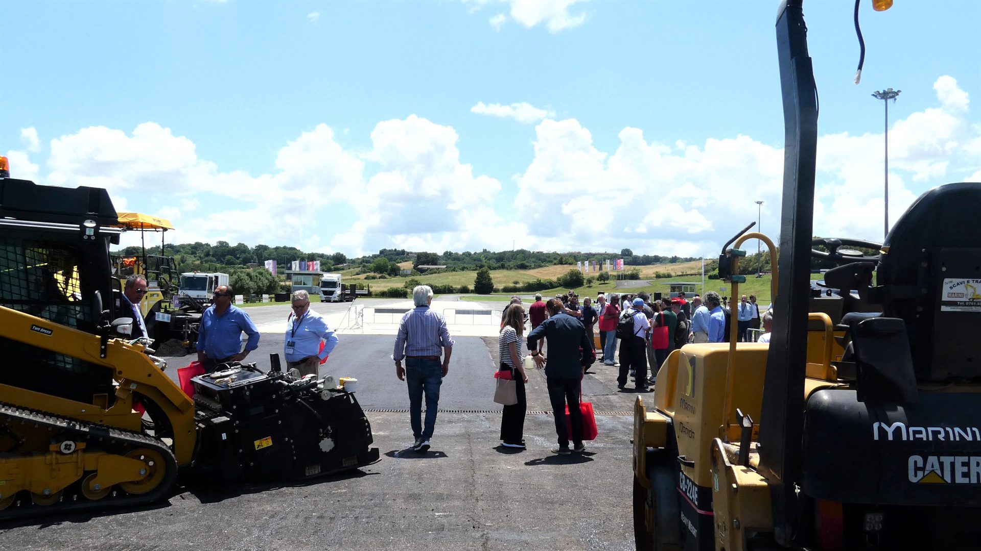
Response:
POLYGON ((412 449, 426 453, 430 449, 430 438, 436 427, 436 412, 439 407, 439 385, 442 377, 449 372, 449 357, 453 352, 453 337, 449 335, 446 321, 430 310, 433 302, 433 289, 429 285, 418 285, 412 289, 412 300, 416 308, 407 312, 398 325, 395 336, 395 376, 407 380, 409 385, 409 422, 415 444, 412 449), (445 350, 442 362, 439 354, 445 350), (405 368, 402 368, 402 359, 405 368), (423 393, 426 394, 426 425, 422 423, 423 393))

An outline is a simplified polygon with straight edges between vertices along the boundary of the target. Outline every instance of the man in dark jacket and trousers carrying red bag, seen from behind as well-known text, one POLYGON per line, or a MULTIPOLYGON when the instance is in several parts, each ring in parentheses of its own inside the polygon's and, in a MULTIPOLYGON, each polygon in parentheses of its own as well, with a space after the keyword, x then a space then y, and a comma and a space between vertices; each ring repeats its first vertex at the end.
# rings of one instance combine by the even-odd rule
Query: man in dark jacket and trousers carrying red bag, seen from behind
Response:
POLYGON ((552 451, 559 455, 570 453, 568 428, 565 425, 565 406, 568 403, 575 445, 571 451, 583 452, 586 451, 586 445, 583 444, 583 414, 579 409, 580 385, 584 372, 581 351, 588 353, 593 345, 586 338, 586 327, 565 313, 560 300, 553 298, 545 307, 549 318, 528 333, 528 349, 535 350, 536 343, 545 339, 548 362, 545 363, 542 352, 536 352, 535 363, 545 369, 548 399, 555 417, 558 447, 552 451))

